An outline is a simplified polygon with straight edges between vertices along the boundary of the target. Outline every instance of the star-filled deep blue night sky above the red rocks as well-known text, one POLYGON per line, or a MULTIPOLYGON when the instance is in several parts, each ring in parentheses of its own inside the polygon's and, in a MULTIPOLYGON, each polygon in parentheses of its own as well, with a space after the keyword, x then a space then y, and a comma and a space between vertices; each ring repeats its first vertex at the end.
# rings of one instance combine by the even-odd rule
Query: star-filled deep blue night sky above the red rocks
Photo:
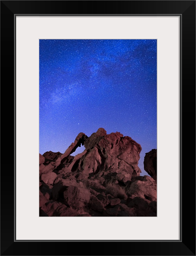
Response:
MULTIPOLYGON (((103 127, 156 148, 156 40, 40 40, 40 154, 103 127)), ((74 154, 84 150, 78 148, 74 154)))

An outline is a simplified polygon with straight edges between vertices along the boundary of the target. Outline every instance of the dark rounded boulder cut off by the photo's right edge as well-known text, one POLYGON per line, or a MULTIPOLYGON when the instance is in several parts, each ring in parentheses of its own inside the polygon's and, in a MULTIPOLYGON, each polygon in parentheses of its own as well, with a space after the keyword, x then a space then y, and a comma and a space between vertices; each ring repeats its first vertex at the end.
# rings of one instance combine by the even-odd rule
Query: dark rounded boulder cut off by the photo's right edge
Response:
POLYGON ((145 154, 144 157, 144 170, 156 180, 156 149, 152 149, 150 152, 145 154))

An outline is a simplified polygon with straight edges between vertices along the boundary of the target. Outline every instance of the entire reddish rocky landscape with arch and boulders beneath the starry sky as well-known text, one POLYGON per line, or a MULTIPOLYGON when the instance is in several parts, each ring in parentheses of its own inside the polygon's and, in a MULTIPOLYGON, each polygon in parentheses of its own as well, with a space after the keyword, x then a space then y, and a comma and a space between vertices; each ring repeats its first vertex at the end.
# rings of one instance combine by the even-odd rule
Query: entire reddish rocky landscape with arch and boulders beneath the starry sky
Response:
POLYGON ((132 138, 99 128, 64 154, 40 154, 40 216, 156 216, 156 149, 144 159, 152 178, 140 176, 140 152, 132 138))

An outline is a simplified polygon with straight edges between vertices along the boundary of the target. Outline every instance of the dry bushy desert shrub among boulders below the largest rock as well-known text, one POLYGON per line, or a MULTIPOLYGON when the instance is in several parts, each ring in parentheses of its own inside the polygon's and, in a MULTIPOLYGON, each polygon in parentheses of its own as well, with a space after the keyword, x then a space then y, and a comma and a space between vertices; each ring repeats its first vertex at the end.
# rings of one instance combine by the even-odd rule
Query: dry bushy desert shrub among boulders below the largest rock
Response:
POLYGON ((115 184, 113 181, 109 181, 106 184, 106 193, 109 193, 113 197, 121 199, 127 198, 127 195, 125 193, 125 187, 119 186, 119 184, 115 184))

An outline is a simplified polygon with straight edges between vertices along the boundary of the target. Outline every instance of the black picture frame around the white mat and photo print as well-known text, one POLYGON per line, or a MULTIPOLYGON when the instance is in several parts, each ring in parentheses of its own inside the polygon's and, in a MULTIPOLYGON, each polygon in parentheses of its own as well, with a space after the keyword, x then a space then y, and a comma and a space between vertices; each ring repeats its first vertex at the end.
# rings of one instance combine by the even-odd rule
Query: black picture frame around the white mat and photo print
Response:
MULTIPOLYGON (((2 138, 7 134, 3 143, 1 161, 1 255, 195 255, 195 161, 191 159, 195 158, 195 3, 196 1, 178 0, 1 1, 1 90, 3 98, 5 95, 8 96, 7 105, 2 107, 1 111, 2 120, 6 120, 2 125, 2 138), (16 156, 15 17, 19 14, 180 15, 181 235, 179 241, 15 240, 15 161, 10 159, 15 159, 16 156), (8 133, 8 126, 14 128, 14 133, 8 133), (13 142, 14 146, 11 147, 13 142)), ((179 149, 176 149, 172 142, 168 142, 169 152, 166 152, 166 158, 172 157, 172 150, 179 149)), ((171 195, 168 200, 175 198, 171 195)))

